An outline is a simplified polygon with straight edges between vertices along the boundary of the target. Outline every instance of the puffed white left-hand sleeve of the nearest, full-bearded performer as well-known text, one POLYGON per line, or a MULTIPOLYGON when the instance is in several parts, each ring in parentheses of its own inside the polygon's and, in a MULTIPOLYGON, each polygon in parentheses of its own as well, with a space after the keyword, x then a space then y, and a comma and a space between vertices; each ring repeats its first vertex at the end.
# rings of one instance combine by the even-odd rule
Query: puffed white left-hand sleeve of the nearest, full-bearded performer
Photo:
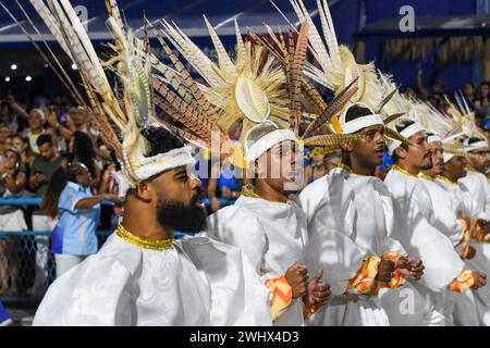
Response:
POLYGON ((130 272, 119 260, 90 257, 49 287, 33 325, 134 325, 130 282, 130 272))

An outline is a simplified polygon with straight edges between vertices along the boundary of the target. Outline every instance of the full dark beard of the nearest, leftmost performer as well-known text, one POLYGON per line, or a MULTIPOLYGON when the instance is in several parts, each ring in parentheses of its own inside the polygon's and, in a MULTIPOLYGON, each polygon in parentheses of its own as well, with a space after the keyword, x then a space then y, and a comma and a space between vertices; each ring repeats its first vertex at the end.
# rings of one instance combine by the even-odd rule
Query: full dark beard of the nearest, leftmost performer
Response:
POLYGON ((170 199, 160 201, 157 207, 158 222, 176 232, 199 233, 206 229, 206 213, 197 206, 200 199, 199 189, 188 204, 170 199))

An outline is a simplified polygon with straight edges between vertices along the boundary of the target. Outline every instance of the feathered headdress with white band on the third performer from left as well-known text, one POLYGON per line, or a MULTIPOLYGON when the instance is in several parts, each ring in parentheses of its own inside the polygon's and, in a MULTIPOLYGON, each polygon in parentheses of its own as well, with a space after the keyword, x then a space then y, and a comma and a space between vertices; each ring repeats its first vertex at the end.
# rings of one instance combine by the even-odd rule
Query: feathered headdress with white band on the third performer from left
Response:
MULTIPOLYGON (((372 63, 358 64, 350 49, 339 45, 327 1, 317 0, 323 38, 315 27, 303 1, 291 0, 291 3, 298 18, 311 27, 309 30, 310 50, 319 64, 317 67, 313 63, 306 63, 305 75, 334 91, 336 97, 342 96, 346 90, 353 91, 348 94, 343 109, 331 115, 331 130, 335 134, 352 135, 367 126, 384 125, 387 117, 390 122, 399 117, 400 115, 382 113, 383 107, 396 92, 396 87, 387 90, 378 79, 372 63), (354 105, 366 108, 370 110, 371 114, 347 122, 347 112, 354 105)), ((391 128, 385 128, 385 136, 408 141, 391 128)))

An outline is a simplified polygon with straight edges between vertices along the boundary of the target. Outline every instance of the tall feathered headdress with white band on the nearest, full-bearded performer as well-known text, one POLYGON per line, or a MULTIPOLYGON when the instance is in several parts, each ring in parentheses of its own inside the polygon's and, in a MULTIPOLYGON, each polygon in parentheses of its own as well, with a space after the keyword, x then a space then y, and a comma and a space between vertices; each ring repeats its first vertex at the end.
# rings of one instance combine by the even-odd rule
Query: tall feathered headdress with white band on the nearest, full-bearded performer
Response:
MULTIPOLYGON (((108 24, 114 38, 113 54, 106 62, 95 48, 68 0, 30 0, 39 16, 65 53, 76 63, 91 113, 102 139, 115 151, 122 170, 118 173, 120 195, 166 170, 195 163, 191 147, 146 157, 148 144, 142 129, 154 126, 155 100, 151 88, 152 64, 148 40, 137 39, 126 28, 114 0, 108 0, 108 24), (118 88, 108 80, 106 71, 118 79, 118 88)), ((159 124, 157 124, 159 125, 159 124)))

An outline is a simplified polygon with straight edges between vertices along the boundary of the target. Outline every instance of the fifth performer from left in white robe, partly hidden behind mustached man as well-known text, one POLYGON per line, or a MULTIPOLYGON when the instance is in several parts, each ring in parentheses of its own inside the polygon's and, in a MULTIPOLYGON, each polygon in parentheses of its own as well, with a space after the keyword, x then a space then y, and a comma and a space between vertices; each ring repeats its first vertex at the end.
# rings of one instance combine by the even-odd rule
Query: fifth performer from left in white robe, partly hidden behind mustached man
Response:
MULTIPOLYGON (((434 134, 428 134, 428 144, 432 153, 432 167, 421 171, 419 177, 424 183, 432 201, 432 209, 436 219, 436 226, 441 231, 453 244, 457 253, 463 260, 471 260, 476 250, 469 245, 469 231, 467 223, 457 216, 457 197, 454 197, 450 190, 446 190, 437 183, 438 175, 444 172, 444 150, 441 137, 434 134)), ((454 161, 464 162, 464 158, 453 158, 454 161)), ((465 262, 468 268, 470 265, 465 262)), ((486 274, 473 271, 473 286, 463 294, 453 291, 454 311, 453 322, 455 325, 473 326, 479 325, 477 307, 471 289, 478 289, 486 284, 486 274)), ((450 300, 450 298, 449 298, 450 300)))

